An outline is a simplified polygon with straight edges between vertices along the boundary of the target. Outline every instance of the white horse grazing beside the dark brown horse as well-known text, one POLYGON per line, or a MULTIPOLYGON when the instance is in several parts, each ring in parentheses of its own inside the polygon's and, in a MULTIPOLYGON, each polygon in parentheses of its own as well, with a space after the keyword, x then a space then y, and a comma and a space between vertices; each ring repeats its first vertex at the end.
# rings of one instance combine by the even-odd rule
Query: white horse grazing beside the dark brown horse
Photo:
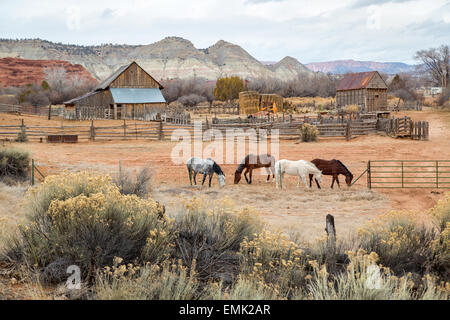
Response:
MULTIPOLYGON (((306 183, 306 177, 309 174, 312 174, 320 183, 322 183, 322 172, 314 165, 314 163, 305 160, 278 160, 275 163, 275 172, 277 177, 277 189, 278 183, 280 184, 281 189, 283 189, 283 179, 285 173, 298 176, 297 188, 300 186, 300 178, 303 180, 305 187, 308 189, 310 188, 310 186, 306 183)), ((320 189, 319 183, 317 183, 317 186, 320 189)))

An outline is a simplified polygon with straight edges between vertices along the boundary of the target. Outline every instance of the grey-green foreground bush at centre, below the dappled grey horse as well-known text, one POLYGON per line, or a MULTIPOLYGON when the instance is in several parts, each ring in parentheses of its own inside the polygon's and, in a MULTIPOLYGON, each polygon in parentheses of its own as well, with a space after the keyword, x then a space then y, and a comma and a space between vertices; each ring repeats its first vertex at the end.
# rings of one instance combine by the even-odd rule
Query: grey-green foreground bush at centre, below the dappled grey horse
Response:
POLYGON ((195 260, 201 280, 220 278, 229 282, 238 272, 241 242, 252 239, 260 228, 248 209, 234 210, 227 200, 209 209, 194 197, 175 217, 175 258, 187 266, 195 260))

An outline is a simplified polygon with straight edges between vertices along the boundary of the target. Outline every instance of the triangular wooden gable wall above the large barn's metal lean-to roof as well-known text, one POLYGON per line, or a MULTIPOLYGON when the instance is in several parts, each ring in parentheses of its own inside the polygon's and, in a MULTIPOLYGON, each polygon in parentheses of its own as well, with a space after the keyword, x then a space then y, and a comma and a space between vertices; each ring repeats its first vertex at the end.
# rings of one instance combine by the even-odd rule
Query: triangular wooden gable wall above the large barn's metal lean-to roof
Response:
POLYGON ((160 85, 136 63, 131 64, 110 84, 111 88, 159 88, 160 85))

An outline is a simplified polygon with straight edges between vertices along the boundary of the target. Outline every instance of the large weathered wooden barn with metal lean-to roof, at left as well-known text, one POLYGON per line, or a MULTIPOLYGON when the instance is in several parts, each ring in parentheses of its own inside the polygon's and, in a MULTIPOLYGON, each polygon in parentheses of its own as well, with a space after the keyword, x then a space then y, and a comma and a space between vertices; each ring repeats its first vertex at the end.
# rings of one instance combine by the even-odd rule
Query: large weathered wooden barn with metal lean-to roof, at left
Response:
POLYGON ((163 86, 136 62, 120 67, 92 92, 64 102, 72 119, 153 120, 166 107, 163 86))

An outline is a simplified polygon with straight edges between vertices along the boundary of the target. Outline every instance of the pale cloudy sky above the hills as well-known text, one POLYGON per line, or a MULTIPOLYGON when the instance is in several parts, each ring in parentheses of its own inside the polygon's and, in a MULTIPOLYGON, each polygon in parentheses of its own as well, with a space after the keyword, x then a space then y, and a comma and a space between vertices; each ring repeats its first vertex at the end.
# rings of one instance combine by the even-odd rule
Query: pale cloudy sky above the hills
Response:
POLYGON ((0 38, 149 44, 179 36, 220 39, 259 60, 415 63, 417 50, 450 44, 450 0, 0 0, 0 38))

